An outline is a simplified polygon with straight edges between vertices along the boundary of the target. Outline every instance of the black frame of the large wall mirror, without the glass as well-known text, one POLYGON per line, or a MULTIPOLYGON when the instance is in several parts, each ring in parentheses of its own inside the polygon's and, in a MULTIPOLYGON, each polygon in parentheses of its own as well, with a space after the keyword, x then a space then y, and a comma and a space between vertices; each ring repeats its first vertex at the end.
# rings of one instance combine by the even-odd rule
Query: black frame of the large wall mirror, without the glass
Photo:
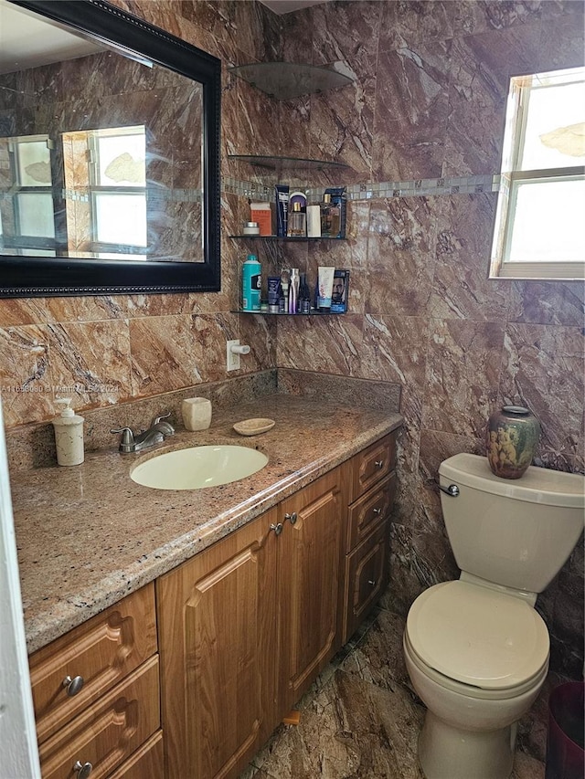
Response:
POLYGON ((221 61, 104 0, 11 0, 40 16, 141 54, 203 86, 204 262, 0 256, 0 298, 216 292, 220 289, 221 61))

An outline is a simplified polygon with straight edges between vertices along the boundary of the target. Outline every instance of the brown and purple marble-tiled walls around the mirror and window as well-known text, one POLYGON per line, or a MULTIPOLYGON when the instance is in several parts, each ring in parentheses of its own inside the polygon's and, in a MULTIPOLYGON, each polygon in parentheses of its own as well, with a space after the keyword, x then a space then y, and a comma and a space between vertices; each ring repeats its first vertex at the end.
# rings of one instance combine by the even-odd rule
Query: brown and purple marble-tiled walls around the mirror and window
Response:
MULTIPOLYGON (((282 17, 236 0, 117 5, 222 59, 222 172, 237 180, 254 176, 227 153, 335 158, 351 166, 343 184, 495 174, 508 76, 583 62, 579 0, 362 0, 282 17), (281 104, 226 69, 279 58, 336 62, 355 81, 281 104)), ((421 589, 457 574, 434 479, 442 458, 483 452, 492 409, 529 405, 543 426, 539 460, 585 469, 583 285, 488 280, 495 198, 358 200, 343 244, 262 245, 266 269, 352 271, 348 315, 277 328, 231 313, 248 247, 229 235, 246 200, 224 192, 218 294, 0 300, 6 424, 50 417, 61 384, 79 384, 74 405, 88 408, 217 381, 226 338, 252 346, 242 374, 279 366, 399 384, 391 592, 405 613, 421 589)), ((580 546, 538 606, 553 668, 571 678, 582 670, 582 594, 580 546)))

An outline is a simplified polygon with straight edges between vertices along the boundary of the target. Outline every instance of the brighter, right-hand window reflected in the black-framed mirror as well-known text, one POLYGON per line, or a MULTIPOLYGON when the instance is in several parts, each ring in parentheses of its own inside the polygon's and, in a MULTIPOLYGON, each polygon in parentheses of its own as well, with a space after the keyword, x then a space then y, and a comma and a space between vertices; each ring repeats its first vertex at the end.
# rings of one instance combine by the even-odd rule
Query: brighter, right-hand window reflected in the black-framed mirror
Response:
POLYGON ((69 251, 145 258, 144 125, 63 133, 69 251))

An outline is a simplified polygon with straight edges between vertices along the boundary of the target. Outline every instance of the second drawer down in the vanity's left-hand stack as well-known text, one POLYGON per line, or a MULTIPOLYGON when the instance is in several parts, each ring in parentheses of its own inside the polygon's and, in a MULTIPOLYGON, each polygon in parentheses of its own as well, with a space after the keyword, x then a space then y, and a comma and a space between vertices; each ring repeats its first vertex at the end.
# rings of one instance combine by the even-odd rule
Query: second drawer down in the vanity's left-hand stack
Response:
POLYGON ((43 779, 73 779, 91 763, 91 779, 109 776, 160 728, 158 656, 40 745, 43 779))

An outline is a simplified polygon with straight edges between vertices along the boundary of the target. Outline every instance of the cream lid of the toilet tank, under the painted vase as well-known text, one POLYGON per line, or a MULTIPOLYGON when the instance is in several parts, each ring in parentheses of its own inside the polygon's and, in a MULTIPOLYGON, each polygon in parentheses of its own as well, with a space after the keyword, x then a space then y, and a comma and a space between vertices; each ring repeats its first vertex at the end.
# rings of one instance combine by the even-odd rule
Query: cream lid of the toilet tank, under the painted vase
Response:
POLYGON ((501 479, 492 473, 487 458, 462 452, 443 460, 439 474, 445 482, 463 484, 513 500, 585 508, 585 477, 579 473, 530 466, 520 479, 501 479))

